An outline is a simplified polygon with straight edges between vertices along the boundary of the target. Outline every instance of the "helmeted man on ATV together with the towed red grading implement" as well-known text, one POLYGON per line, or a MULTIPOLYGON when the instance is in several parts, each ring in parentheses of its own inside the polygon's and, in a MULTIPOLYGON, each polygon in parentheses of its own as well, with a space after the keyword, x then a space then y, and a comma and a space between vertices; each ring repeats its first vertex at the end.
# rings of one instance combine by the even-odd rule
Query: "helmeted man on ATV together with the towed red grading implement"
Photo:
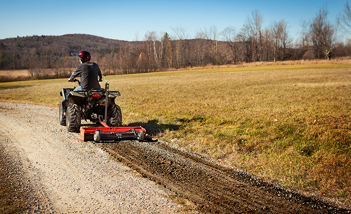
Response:
POLYGON ((80 65, 68 81, 78 82, 80 86, 61 90, 63 100, 59 106, 60 124, 66 125, 70 132, 80 132, 84 141, 121 139, 154 141, 152 137, 146 135, 146 130, 141 126, 122 127, 121 108, 115 103, 115 98, 121 94, 118 91, 110 91, 106 79, 105 89, 100 87, 101 71, 96 63, 90 62, 89 52, 82 51, 77 56, 80 58, 80 65), (75 79, 79 75, 81 81, 75 79), (103 127, 80 127, 82 119, 99 123, 103 127))

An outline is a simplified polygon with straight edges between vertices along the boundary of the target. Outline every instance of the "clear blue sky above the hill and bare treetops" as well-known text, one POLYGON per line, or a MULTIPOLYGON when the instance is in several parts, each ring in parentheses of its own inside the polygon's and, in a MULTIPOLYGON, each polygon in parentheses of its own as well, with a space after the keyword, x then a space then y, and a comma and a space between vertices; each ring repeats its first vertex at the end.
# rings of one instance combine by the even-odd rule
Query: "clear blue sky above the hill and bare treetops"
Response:
POLYGON ((346 0, 292 1, 23 1, 0 0, 0 39, 33 35, 91 34, 126 41, 142 40, 145 33, 158 35, 185 29, 188 39, 197 31, 215 26, 218 32, 233 26, 238 31, 252 12, 259 10, 263 27, 285 20, 295 42, 301 20, 312 20, 327 7, 328 20, 335 22, 346 0))

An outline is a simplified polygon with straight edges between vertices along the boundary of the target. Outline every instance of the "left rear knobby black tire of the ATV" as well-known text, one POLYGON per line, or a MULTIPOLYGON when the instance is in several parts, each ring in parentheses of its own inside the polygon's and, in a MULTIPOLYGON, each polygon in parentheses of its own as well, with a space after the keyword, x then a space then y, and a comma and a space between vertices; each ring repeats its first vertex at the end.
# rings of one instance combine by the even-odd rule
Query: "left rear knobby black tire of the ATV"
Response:
POLYGON ((66 110, 66 126, 69 132, 79 132, 81 122, 80 106, 70 104, 66 110))

